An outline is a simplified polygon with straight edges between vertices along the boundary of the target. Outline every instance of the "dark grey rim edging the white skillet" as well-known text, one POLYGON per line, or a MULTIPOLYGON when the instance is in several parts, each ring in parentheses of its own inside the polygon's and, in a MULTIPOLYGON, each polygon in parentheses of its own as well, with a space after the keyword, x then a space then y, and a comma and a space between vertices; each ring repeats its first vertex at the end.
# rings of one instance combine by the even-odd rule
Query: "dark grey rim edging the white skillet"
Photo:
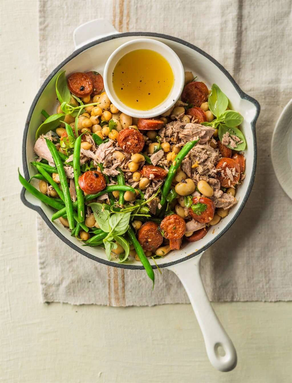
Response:
MULTIPOLYGON (((196 47, 195 45, 188 43, 187 41, 184 41, 184 40, 181 40, 181 39, 169 36, 169 35, 165 35, 165 34, 149 33, 149 32, 132 32, 132 33, 131 32, 127 32, 127 33, 113 34, 113 35, 106 36, 104 38, 92 41, 91 43, 88 43, 88 44, 84 45, 83 47, 79 48, 78 50, 74 51, 69 57, 67 57, 67 59, 65 59, 60 65, 58 65, 52 71, 52 73, 47 77, 47 79, 42 84, 41 88, 37 92, 37 95, 36 95, 36 97, 34 98, 34 100, 32 102, 31 108, 29 109, 28 118, 26 120, 26 124, 25 124, 25 128, 24 128, 24 133, 23 133, 23 170, 24 170, 24 176, 28 180, 29 179, 29 172, 28 172, 28 163, 27 163, 27 160, 26 160, 26 140, 27 140, 27 135, 28 135, 29 122, 30 122, 30 119, 31 119, 31 116, 32 116, 32 112, 33 112, 33 110, 34 110, 34 108, 35 108, 35 106, 37 104, 37 101, 39 100, 39 97, 41 96, 44 88, 47 86, 47 84, 52 79, 52 77, 54 77, 54 75, 58 72, 58 70, 60 70, 63 67, 63 65, 67 64, 67 62, 69 62, 74 57, 78 56, 79 53, 85 51, 86 49, 88 49, 88 48, 90 48, 90 47, 92 47, 92 46, 94 46, 96 44, 103 43, 104 41, 109 41, 109 40, 112 40, 112 39, 116 39, 116 38, 120 38, 120 37, 127 37, 127 36, 152 36, 152 37, 159 37, 159 38, 175 41, 177 43, 183 44, 183 45, 193 49, 194 51, 199 52, 204 57, 206 57, 211 62, 213 62, 213 64, 215 64, 221 70, 221 72, 223 72, 226 75, 226 77, 230 80, 230 82, 235 87, 235 89, 237 90, 238 94, 240 95, 240 97, 242 99, 250 101, 256 107, 256 115, 255 115, 255 118, 253 119, 253 121, 251 122, 251 128, 252 128, 252 133, 253 133, 253 147, 254 147, 254 153, 255 153, 254 163, 253 163, 253 169, 251 170, 251 179, 250 179, 250 183, 248 185, 247 193, 245 194, 245 196, 243 198, 243 201, 242 201, 242 204, 241 204, 240 208, 238 208, 238 211, 236 212, 235 216, 225 226, 225 228, 219 234, 217 234, 216 237, 214 237, 211 241, 209 241, 208 244, 206 244, 204 247, 202 247, 200 250, 194 252, 193 254, 187 255, 186 257, 183 257, 181 259, 175 260, 173 262, 166 262, 164 264, 159 265, 159 268, 162 268, 162 267, 168 267, 168 266, 171 266, 171 265, 178 264, 178 263, 183 262, 183 261, 185 261, 187 259, 195 257, 198 254, 201 254, 201 252, 203 252, 206 249, 208 249, 209 246, 213 245, 214 242, 217 241, 217 239, 219 239, 223 234, 225 234, 225 232, 230 228, 230 226, 235 222, 235 220, 238 218, 239 214, 241 213, 241 211, 242 211, 242 209, 243 209, 243 207, 244 207, 244 205, 245 205, 245 203, 246 203, 246 201, 248 199, 248 196, 250 195, 250 191, 251 191, 251 188, 253 186, 253 182, 255 180, 256 159, 257 159, 255 124, 256 124, 256 120, 258 119, 258 116, 260 114, 260 104, 254 98, 252 98, 252 97, 248 96, 246 93, 244 93, 240 89, 240 87, 237 85, 235 80, 232 78, 232 76, 227 72, 227 70, 221 64, 219 64, 219 62, 217 62, 215 59, 213 59, 213 57, 211 57, 209 54, 207 54, 206 52, 202 51, 200 48, 196 47)), ((92 260, 95 260, 96 262, 99 262, 99 263, 102 263, 102 264, 105 264, 105 265, 108 265, 108 266, 120 267, 120 268, 128 268, 128 269, 136 269, 136 270, 137 269, 138 270, 143 270, 144 269, 143 266, 118 264, 116 262, 107 261, 107 260, 101 259, 99 257, 96 257, 96 256, 94 256, 92 254, 89 254, 88 252, 84 251, 83 249, 79 249, 79 247, 75 246, 75 244, 73 244, 71 241, 69 241, 66 237, 64 237, 60 233, 60 231, 58 231, 57 228, 55 228, 55 226, 47 218, 47 216, 45 215, 44 211, 42 210, 42 208, 40 206, 33 205, 28 200, 26 200, 24 192, 25 192, 25 189, 23 188, 22 191, 21 191, 21 201, 24 203, 24 205, 28 206, 32 210, 37 211, 37 213, 40 214, 40 216, 42 217, 42 219, 44 219, 45 223, 49 226, 49 228, 60 239, 62 239, 63 242, 65 242, 68 246, 70 246, 73 250, 76 250, 80 254, 85 255, 86 257, 88 257, 88 258, 90 258, 92 260)), ((156 266, 152 265, 152 268, 156 268, 156 266)))

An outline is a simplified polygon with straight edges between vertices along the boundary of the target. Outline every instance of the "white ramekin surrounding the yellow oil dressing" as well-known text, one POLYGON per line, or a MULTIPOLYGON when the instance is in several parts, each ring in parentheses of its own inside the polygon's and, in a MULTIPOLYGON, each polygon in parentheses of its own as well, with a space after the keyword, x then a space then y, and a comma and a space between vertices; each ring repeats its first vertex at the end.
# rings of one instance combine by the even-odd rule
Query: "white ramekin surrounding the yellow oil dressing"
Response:
POLYGON ((123 113, 132 117, 149 118, 159 116, 169 108, 171 108, 183 90, 185 82, 185 72, 183 70, 182 62, 177 54, 166 44, 161 43, 155 39, 136 39, 128 41, 127 43, 118 47, 109 57, 104 68, 104 88, 112 103, 123 113), (128 52, 135 51, 136 49, 150 49, 160 53, 170 64, 174 73, 174 85, 169 93, 169 96, 155 108, 151 110, 138 110, 130 108, 120 101, 117 97, 112 84, 112 73, 117 62, 125 56, 128 52))

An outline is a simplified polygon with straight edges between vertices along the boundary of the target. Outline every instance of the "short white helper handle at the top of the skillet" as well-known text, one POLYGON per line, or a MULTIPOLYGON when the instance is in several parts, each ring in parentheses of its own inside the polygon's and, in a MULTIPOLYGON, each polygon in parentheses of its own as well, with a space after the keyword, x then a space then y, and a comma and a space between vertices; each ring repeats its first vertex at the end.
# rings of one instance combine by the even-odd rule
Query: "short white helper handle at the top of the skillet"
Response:
POLYGON ((91 41, 116 33, 118 31, 105 19, 95 19, 81 24, 73 32, 75 51, 91 41))

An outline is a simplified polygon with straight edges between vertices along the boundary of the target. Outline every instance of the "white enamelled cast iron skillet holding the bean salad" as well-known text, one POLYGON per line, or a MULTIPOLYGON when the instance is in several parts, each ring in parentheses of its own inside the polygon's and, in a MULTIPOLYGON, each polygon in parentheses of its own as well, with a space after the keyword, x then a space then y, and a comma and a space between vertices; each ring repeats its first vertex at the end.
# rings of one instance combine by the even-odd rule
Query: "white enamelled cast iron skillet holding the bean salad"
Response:
MULTIPOLYGON (((171 47, 180 57, 185 70, 191 70, 194 75, 198 76, 199 81, 206 82, 208 88, 211 88, 212 83, 217 83, 232 101, 233 109, 240 112, 244 117, 242 128, 247 140, 247 150, 245 151, 246 178, 238 188, 237 205, 217 226, 212 227, 215 229, 214 233, 213 230, 209 230, 200 241, 190 243, 181 250, 172 251, 165 258, 157 259, 160 268, 166 267, 172 270, 182 281, 200 324, 210 362, 217 370, 230 371, 237 363, 236 351, 209 303, 201 281, 199 264, 204 250, 208 249, 230 228, 242 211, 250 194, 256 169, 255 123, 260 113, 260 105, 256 100, 242 92, 221 64, 196 46, 172 36, 147 32, 117 33, 106 20, 93 20, 79 26, 74 31, 76 50, 58 65, 45 80, 29 110, 23 136, 24 174, 26 179, 29 179, 36 173, 36 170, 29 165, 35 157, 33 152, 34 137, 37 127, 42 122, 42 109, 49 113, 55 113, 57 107, 55 80, 60 70, 65 69, 67 75, 89 70, 96 70, 103 74, 105 62, 110 54, 121 44, 141 38, 141 36, 162 41, 171 47), (221 348, 224 349, 223 353, 220 352, 221 348)), ((36 180, 33 182, 35 185, 37 184, 36 180)), ((26 206, 36 210, 42 216, 49 228, 63 242, 80 254, 113 267, 143 269, 141 263, 135 260, 127 262, 127 264, 119 264, 116 260, 108 261, 103 249, 88 247, 86 248, 87 251, 84 250, 80 242, 71 237, 70 232, 62 224, 58 221, 51 222, 52 209, 50 207, 41 203, 24 189, 21 192, 21 199, 26 206)), ((150 261, 152 262, 152 260, 150 261)), ((152 267, 156 268, 154 264, 152 267)))

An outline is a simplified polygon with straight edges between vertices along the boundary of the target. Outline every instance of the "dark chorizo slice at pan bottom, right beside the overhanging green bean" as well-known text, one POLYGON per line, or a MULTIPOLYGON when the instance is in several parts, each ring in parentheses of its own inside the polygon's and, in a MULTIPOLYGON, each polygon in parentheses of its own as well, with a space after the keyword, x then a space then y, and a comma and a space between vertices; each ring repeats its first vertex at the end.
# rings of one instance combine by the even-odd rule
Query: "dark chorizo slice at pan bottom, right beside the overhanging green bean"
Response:
POLYGON ((144 250, 155 251, 163 241, 158 224, 155 222, 144 223, 138 231, 138 241, 144 250))

